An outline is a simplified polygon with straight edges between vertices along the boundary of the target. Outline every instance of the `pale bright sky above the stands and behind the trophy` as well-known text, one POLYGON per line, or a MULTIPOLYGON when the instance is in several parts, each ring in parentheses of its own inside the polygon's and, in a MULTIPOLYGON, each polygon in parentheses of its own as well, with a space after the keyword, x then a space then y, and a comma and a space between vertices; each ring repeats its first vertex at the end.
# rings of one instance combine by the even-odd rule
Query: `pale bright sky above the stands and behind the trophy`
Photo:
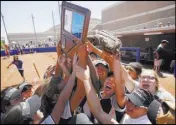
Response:
MULTIPOLYGON (((91 18, 101 19, 101 10, 117 1, 72 1, 72 3, 91 10, 91 18)), ((52 10, 55 24, 59 24, 57 1, 1 1, 1 12, 8 33, 34 32, 31 14, 34 15, 36 32, 43 32, 53 26, 52 10)), ((1 37, 6 37, 1 18, 1 37)))

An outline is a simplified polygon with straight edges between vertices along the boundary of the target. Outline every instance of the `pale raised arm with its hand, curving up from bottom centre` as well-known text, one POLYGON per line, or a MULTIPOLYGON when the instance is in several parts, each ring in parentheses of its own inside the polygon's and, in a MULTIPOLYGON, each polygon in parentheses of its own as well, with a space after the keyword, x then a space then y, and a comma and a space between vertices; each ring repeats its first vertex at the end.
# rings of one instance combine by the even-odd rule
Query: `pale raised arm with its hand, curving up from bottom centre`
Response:
POLYGON ((94 117, 102 124, 117 124, 117 121, 106 114, 100 104, 99 98, 96 95, 95 89, 91 83, 89 67, 83 69, 79 66, 76 67, 76 76, 83 81, 85 93, 94 117))

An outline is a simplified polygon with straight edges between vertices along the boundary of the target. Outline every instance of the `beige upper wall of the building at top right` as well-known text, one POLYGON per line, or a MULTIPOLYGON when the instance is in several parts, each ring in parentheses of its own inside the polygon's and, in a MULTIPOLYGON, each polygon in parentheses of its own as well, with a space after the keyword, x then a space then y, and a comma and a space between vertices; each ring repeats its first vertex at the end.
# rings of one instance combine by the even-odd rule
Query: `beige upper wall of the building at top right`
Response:
POLYGON ((102 23, 175 4, 175 1, 127 1, 102 11, 102 23))

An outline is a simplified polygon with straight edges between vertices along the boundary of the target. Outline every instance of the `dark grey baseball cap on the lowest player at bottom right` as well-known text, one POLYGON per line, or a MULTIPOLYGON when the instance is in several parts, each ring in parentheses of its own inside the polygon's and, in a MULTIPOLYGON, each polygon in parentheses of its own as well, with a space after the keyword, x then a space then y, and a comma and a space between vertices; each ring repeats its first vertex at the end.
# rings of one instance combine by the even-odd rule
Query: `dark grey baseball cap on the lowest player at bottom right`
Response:
POLYGON ((148 107, 154 100, 153 95, 144 89, 137 89, 130 94, 126 94, 128 99, 136 106, 148 107))

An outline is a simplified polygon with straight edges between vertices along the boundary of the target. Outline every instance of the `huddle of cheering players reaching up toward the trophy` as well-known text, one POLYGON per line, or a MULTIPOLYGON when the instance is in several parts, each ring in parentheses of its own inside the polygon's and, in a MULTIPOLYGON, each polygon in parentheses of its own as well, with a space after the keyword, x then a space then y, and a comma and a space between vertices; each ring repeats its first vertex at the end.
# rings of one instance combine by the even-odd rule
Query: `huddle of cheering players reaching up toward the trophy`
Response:
MULTIPOLYGON (((106 38, 108 39, 108 38, 106 38)), ((85 47, 85 46, 83 46, 85 47)), ((108 53, 86 43, 92 66, 78 65, 60 55, 49 66, 45 83, 37 89, 29 83, 1 91, 4 124, 166 124, 175 123, 175 98, 160 87, 155 71, 138 62, 122 64, 120 54, 108 53), (95 70, 93 73, 92 71, 95 70), (96 75, 97 81, 91 79, 96 75), (78 79, 85 97, 76 110, 72 104, 78 79), (97 85, 97 86, 96 86, 97 85)), ((61 53, 61 50, 57 50, 61 53)), ((80 50, 79 53, 82 53, 80 50)))

